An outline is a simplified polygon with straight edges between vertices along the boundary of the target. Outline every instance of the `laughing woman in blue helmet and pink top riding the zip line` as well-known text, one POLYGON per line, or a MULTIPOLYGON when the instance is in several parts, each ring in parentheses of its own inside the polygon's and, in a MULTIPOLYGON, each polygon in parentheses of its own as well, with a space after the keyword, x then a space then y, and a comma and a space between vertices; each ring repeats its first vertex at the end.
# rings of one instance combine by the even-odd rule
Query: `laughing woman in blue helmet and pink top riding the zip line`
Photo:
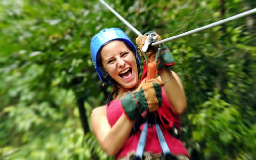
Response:
MULTIPOLYGON (((146 36, 136 39, 140 50, 146 36)), ((155 53, 156 48, 146 53, 149 62, 155 59, 155 53)), ((104 151, 109 156, 115 156, 115 159, 134 157, 144 126, 142 123, 145 122, 143 119, 150 121, 152 117, 159 122, 171 153, 177 159, 189 157, 181 141, 175 137, 175 134, 178 135, 175 129, 180 130, 179 114, 186 109, 183 86, 178 75, 166 67, 174 64, 168 61, 171 56, 168 48, 164 48, 161 53, 158 63, 162 65, 158 65, 158 79, 143 80, 147 68, 144 63, 143 81, 140 81, 140 60, 136 47, 122 30, 103 29, 91 41, 94 66, 100 79, 106 84, 112 84, 111 95, 114 99, 107 102, 107 105, 93 109, 92 130, 104 151)), ((147 132, 144 157, 159 159, 161 153, 156 127, 152 123, 147 132)))

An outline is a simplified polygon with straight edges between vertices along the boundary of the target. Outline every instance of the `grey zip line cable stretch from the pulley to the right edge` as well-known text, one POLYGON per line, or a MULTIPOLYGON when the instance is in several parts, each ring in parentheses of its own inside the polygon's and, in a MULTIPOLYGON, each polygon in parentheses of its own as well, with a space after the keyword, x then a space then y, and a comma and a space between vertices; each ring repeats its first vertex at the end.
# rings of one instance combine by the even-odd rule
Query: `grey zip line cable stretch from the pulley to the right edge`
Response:
POLYGON ((172 40, 174 40, 174 39, 181 38, 181 37, 184 37, 184 36, 187 36, 187 35, 191 35, 191 34, 193 34, 193 33, 202 31, 202 30, 204 30, 204 29, 208 29, 208 28, 211 28, 211 27, 215 27, 215 26, 217 26, 217 25, 220 25, 220 24, 229 22, 229 21, 231 21, 231 20, 235 20, 235 19, 240 18, 240 17, 247 16, 247 15, 252 14, 252 13, 255 13, 255 12, 256 12, 256 8, 251 9, 251 10, 249 10, 249 11, 242 12, 242 13, 237 14, 237 15, 235 15, 235 16, 232 16, 232 17, 229 17, 229 18, 226 18, 226 19, 223 19, 223 20, 220 20, 220 21, 217 21, 217 22, 208 24, 208 25, 203 26, 203 27, 200 27, 200 28, 196 28, 196 29, 187 31, 187 32, 181 33, 181 34, 176 35, 176 36, 172 36, 172 37, 170 37, 170 38, 166 38, 166 39, 163 39, 163 40, 161 40, 161 41, 154 42, 154 43, 152 43, 151 45, 152 45, 152 46, 155 46, 155 45, 158 45, 158 44, 162 44, 162 43, 164 43, 164 42, 169 42, 169 41, 172 41, 172 40))

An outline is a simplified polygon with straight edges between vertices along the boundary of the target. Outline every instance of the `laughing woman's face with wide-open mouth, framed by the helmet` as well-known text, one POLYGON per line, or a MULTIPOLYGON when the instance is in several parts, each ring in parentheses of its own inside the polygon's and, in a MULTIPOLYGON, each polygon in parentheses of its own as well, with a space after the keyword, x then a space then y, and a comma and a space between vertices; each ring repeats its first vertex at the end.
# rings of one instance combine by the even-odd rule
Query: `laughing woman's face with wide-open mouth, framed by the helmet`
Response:
POLYGON ((104 69, 124 88, 132 88, 139 83, 135 56, 124 42, 111 41, 100 54, 104 69))

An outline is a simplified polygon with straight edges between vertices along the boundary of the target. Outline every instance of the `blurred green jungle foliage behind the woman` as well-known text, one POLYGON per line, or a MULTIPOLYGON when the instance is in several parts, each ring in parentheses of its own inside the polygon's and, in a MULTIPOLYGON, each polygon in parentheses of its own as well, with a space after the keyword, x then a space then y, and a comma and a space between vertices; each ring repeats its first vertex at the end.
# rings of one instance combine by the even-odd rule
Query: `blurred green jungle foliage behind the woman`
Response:
MULTIPOLYGON (((256 7, 255 0, 106 0, 141 33, 168 38, 256 7)), ((137 35, 96 0, 0 0, 0 159, 113 159, 90 113, 111 91, 90 41, 137 35)), ((192 160, 256 159, 256 14, 168 43, 188 102, 182 142, 192 160)), ((100 118, 100 117, 99 117, 100 118)))

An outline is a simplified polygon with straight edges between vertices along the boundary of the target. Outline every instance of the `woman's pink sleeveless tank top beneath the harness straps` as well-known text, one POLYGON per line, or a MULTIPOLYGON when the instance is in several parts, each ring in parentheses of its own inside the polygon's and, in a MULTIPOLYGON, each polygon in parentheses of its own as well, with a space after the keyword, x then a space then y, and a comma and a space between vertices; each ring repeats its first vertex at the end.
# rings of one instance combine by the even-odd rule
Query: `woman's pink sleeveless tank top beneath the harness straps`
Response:
MULTIPOLYGON (((180 116, 177 114, 174 114, 170 108, 170 105, 168 103, 168 100, 165 96, 164 90, 162 88, 162 107, 158 109, 158 111, 162 110, 162 112, 166 113, 166 110, 169 111, 168 115, 171 119, 173 124, 175 124, 179 129, 180 129, 180 116)), ((110 102, 110 104, 107 106, 107 118, 108 118, 108 122, 111 125, 111 127, 116 123, 116 121, 118 120, 118 118, 122 115, 123 113, 123 109, 121 106, 121 100, 112 100, 110 102)), ((188 151, 186 150, 186 148, 184 147, 184 145, 182 144, 182 142, 174 137, 172 137, 172 135, 162 126, 159 125, 164 138, 166 140, 166 143, 170 149, 170 151, 173 154, 182 154, 182 155, 188 155, 188 151)), ((137 149, 137 145, 138 145, 138 141, 140 139, 140 133, 142 131, 144 127, 144 124, 142 124, 140 126, 140 129, 133 134, 131 137, 129 137, 124 146, 121 148, 120 152, 115 156, 115 159, 121 158, 121 157, 125 157, 127 156, 128 153, 130 152, 136 152, 137 149)), ((147 138, 146 138, 146 145, 144 148, 144 151, 146 152, 152 152, 152 153, 161 153, 162 149, 157 137, 157 132, 156 132, 156 127, 155 125, 152 128, 148 128, 148 132, 147 132, 147 138)))

